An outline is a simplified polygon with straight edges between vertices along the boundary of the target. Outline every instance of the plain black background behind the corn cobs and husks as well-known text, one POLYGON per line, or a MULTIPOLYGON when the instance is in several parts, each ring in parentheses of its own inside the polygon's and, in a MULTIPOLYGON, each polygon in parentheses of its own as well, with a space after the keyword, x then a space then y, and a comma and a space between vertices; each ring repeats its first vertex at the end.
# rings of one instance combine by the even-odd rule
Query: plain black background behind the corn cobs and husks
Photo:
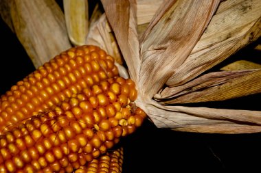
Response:
MULTIPOLYGON (((0 92, 4 94, 35 68, 16 35, 2 20, 0 36, 0 92)), ((247 58, 260 63, 260 51, 253 51, 256 44, 257 42, 247 46, 230 59, 247 58)), ((225 63, 229 63, 229 60, 225 63)), ((260 94, 257 94, 205 105, 260 110, 260 98, 260 94)), ((124 146, 124 173, 260 172, 260 133, 239 135, 185 133, 157 129, 146 120, 142 127, 133 135, 122 139, 120 144, 124 146)))

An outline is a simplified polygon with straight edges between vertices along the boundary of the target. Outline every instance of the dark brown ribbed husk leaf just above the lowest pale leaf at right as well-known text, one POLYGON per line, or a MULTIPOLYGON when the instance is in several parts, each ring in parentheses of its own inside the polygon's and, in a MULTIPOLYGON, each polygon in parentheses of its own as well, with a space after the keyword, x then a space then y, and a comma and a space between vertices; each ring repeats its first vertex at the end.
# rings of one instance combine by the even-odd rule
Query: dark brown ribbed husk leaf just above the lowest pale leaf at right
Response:
MULTIPOLYGON (((172 88, 171 91, 174 88, 172 88)), ((164 104, 224 101, 261 92, 261 70, 212 72, 180 85, 164 104), (183 86, 183 88, 182 88, 183 86), (248 88, 246 90, 245 88, 248 88), (181 91, 179 91, 181 90, 181 91)), ((166 92, 166 90, 163 90, 166 92)), ((169 96, 169 93, 166 94, 169 96)), ((166 98, 165 98, 166 99, 166 98)))

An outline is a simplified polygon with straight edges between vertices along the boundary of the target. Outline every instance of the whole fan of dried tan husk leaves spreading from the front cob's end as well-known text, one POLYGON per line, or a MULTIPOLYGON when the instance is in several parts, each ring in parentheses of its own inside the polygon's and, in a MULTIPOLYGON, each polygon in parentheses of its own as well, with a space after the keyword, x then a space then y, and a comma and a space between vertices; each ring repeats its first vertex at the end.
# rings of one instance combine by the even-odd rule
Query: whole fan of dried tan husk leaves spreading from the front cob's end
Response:
MULTIPOLYGON (((161 100, 177 88, 185 92, 192 86, 195 91, 207 88, 205 92, 212 95, 206 101, 260 92, 260 70, 213 72, 200 77, 260 37, 260 1, 164 1, 140 39, 135 1, 102 4, 131 78, 138 83, 137 105, 157 127, 203 133, 261 130, 261 111, 184 107, 161 100), (165 84, 169 87, 163 88, 165 84), (249 86, 253 90, 245 91, 249 86), (225 96, 220 95, 223 92, 225 96)), ((187 101, 202 101, 205 93, 195 96, 195 91, 187 101)))

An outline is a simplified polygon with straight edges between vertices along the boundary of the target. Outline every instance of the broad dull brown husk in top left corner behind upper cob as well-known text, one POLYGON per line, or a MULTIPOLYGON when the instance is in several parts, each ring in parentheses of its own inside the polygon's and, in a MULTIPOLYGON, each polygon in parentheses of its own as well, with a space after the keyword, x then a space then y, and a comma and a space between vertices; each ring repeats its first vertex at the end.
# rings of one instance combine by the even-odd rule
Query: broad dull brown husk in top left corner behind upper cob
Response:
POLYGON ((13 27, 36 68, 71 47, 65 17, 56 1, 11 0, 8 5, 8 9, 1 9, 1 14, 10 14, 5 21, 13 27))

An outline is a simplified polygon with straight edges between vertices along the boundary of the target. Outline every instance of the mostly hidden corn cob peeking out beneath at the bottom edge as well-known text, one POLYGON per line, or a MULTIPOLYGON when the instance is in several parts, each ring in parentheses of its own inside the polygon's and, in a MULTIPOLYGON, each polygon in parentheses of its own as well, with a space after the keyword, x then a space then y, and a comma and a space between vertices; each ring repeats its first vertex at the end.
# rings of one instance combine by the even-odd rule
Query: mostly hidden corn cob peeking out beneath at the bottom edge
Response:
POLYGON ((121 173, 123 163, 123 148, 106 152, 98 159, 80 166, 74 173, 121 173))

